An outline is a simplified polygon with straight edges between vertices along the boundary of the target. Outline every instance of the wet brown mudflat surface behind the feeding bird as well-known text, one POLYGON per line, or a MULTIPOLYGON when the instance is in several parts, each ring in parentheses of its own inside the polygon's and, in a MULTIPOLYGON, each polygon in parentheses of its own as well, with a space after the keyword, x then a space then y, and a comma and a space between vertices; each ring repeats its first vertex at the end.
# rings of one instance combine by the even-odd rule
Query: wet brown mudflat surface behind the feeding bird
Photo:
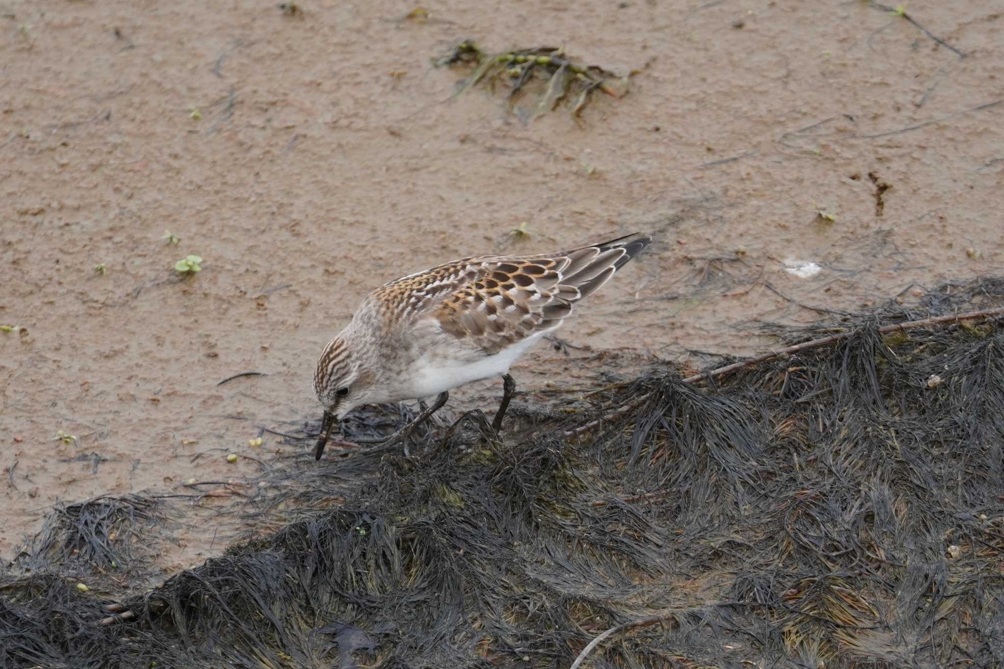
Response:
MULTIPOLYGON (((248 439, 316 417, 316 355, 365 293, 456 257, 651 231, 559 336, 697 366, 775 344, 758 322, 1001 274, 999 3, 298 5, 0 1, 5 559, 59 500, 289 453, 248 439), (470 69, 430 58, 464 38, 637 72, 525 121, 503 88, 451 98, 470 69)), ((521 401, 588 382, 563 356, 514 367, 521 401)), ((166 572, 223 550, 206 516, 166 572)))

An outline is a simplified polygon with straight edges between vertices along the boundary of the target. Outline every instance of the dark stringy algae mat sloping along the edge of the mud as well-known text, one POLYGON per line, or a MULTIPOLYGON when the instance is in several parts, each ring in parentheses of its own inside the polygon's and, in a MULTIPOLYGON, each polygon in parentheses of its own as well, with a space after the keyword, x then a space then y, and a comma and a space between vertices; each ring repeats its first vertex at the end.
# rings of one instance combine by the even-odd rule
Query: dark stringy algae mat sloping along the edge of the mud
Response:
POLYGON ((1000 667, 1002 304, 827 314, 774 328, 821 344, 523 394, 408 456, 314 462, 305 421, 230 510, 247 538, 163 583, 181 501, 57 508, 0 572, 0 666, 1000 667))

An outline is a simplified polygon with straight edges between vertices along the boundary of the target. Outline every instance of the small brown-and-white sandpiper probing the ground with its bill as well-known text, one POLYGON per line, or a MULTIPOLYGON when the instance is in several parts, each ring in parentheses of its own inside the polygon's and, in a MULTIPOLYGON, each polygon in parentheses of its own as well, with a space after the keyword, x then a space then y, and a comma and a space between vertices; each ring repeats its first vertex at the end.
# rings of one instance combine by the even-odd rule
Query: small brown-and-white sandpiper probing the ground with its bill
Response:
POLYGON ((651 243, 635 233, 558 253, 476 256, 378 288, 317 361, 324 418, 315 459, 335 421, 356 406, 438 395, 383 441, 390 445, 439 410, 451 389, 501 375, 498 431, 516 390, 509 366, 651 243))

